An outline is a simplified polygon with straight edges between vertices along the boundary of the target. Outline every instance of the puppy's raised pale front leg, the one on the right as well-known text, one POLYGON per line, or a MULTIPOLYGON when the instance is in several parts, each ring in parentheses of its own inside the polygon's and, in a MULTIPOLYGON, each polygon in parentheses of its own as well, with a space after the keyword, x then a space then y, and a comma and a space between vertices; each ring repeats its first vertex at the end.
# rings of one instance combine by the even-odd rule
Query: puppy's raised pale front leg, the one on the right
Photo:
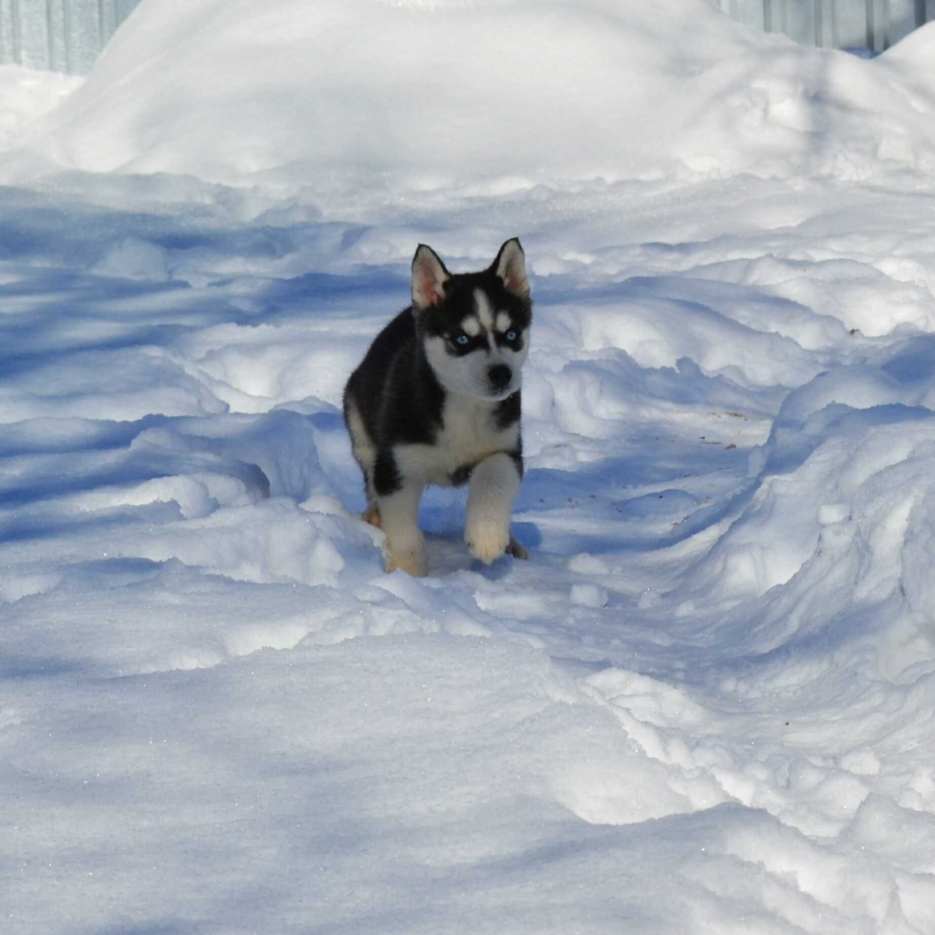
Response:
POLYGON ((511 545, 510 511, 519 489, 519 470, 509 454, 491 454, 471 472, 465 541, 470 554, 484 565, 490 565, 511 545))

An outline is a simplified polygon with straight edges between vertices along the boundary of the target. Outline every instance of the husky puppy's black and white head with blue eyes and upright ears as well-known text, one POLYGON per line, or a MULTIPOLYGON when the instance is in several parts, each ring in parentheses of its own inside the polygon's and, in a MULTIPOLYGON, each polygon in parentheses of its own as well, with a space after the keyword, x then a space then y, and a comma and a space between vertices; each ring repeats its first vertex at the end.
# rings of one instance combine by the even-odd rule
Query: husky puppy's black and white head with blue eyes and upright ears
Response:
POLYGON ((428 363, 448 392, 498 402, 520 388, 532 300, 516 237, 477 273, 449 273, 420 244, 412 258, 412 312, 428 363))

